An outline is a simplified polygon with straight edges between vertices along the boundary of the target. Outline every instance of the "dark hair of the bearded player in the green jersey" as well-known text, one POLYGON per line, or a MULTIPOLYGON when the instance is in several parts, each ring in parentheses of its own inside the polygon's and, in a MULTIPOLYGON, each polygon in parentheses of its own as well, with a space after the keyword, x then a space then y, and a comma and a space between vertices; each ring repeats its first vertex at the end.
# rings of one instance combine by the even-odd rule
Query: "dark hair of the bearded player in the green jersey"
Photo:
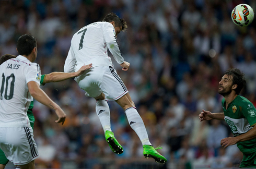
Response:
POLYGON ((224 75, 231 75, 233 77, 232 79, 232 85, 237 85, 237 88, 235 89, 236 94, 239 94, 243 87, 246 85, 246 78, 245 74, 242 73, 237 68, 228 69, 224 72, 224 75))

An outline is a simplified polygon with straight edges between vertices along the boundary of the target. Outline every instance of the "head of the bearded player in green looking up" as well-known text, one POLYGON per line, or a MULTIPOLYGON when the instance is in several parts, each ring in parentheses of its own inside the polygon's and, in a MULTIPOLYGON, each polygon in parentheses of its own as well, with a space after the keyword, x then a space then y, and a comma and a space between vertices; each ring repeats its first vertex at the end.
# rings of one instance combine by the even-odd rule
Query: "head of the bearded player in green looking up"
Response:
POLYGON ((239 94, 245 85, 245 74, 237 68, 228 69, 224 72, 222 80, 219 81, 218 93, 225 96, 234 90, 236 94, 239 94))

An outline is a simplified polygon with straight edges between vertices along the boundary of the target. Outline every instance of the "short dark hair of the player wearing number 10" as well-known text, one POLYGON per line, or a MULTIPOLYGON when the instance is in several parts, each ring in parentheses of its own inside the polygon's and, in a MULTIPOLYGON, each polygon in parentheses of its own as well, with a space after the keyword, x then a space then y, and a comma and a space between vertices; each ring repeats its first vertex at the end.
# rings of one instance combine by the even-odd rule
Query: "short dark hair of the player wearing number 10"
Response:
POLYGON ((28 56, 34 47, 37 47, 37 40, 31 34, 24 34, 19 37, 17 51, 20 55, 28 56))

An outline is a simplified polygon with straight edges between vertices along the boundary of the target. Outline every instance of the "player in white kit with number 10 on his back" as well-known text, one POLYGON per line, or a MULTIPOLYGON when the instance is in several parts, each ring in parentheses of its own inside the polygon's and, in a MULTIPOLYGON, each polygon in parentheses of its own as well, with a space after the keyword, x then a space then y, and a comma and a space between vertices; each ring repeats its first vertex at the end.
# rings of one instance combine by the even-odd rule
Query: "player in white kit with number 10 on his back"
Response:
POLYGON ((66 114, 39 88, 40 66, 32 63, 37 57, 36 39, 21 35, 17 51, 19 56, 0 66, 0 149, 21 169, 33 169, 39 154, 27 116, 32 96, 55 110, 59 117, 56 123, 63 124, 66 114))

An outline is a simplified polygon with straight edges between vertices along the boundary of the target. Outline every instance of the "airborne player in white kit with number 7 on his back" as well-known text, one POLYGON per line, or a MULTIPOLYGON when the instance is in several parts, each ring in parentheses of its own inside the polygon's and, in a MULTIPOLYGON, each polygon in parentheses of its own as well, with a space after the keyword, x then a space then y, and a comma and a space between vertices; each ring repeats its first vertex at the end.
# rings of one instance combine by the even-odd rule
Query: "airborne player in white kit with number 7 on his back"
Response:
POLYGON ((130 126, 143 144, 144 156, 154 158, 156 162, 166 163, 166 158, 159 154, 149 142, 143 120, 108 56, 109 49, 115 61, 123 67, 122 70, 129 69, 130 63, 124 61, 117 42, 117 35, 126 28, 124 19, 120 19, 113 13, 108 14, 102 22, 94 22, 81 28, 71 40, 64 72, 74 72, 84 64, 92 63, 92 68, 75 80, 79 87, 86 91, 86 96, 96 99, 96 113, 113 152, 121 154, 123 148, 111 130, 107 100, 115 101, 123 108, 130 126))

